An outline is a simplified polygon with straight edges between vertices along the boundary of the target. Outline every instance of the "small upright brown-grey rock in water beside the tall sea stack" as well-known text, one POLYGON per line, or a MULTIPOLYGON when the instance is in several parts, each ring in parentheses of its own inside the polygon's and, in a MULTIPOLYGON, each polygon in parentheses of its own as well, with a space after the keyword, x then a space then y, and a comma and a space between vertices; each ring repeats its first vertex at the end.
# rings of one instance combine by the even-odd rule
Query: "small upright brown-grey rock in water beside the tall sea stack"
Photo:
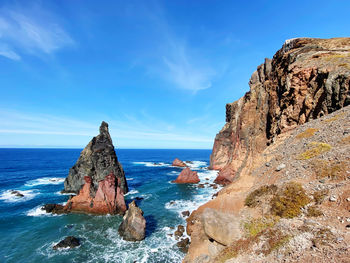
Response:
POLYGON ((141 241, 145 239, 146 219, 143 217, 143 212, 137 207, 135 201, 129 204, 129 209, 124 215, 118 232, 126 241, 141 241))

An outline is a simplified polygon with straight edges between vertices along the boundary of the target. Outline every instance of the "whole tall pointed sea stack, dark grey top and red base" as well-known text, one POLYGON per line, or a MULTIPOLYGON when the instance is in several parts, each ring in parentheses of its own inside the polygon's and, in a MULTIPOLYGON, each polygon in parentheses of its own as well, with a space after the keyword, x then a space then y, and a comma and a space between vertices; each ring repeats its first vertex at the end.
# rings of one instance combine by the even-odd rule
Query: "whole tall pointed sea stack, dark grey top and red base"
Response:
POLYGON ((66 212, 123 214, 124 194, 128 191, 125 175, 114 151, 108 124, 102 122, 100 134, 81 152, 69 170, 64 192, 77 193, 68 200, 66 212))

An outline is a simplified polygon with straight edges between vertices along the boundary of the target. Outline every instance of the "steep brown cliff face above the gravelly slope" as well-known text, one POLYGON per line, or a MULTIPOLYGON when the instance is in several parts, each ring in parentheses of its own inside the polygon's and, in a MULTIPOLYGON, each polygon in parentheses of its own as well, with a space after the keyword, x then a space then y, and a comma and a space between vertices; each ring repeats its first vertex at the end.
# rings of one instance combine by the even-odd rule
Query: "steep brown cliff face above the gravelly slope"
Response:
POLYGON ((287 40, 249 81, 250 91, 226 105, 210 168, 217 182, 239 176, 277 135, 350 104, 350 38, 287 40))

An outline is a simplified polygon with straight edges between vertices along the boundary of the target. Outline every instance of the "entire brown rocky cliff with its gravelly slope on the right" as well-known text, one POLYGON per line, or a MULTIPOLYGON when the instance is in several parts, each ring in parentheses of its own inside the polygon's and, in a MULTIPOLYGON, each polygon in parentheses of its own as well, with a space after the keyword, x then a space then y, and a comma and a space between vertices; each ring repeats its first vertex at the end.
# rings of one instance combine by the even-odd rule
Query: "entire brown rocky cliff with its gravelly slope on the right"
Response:
POLYGON ((350 38, 288 40, 226 105, 184 262, 348 262, 350 38))

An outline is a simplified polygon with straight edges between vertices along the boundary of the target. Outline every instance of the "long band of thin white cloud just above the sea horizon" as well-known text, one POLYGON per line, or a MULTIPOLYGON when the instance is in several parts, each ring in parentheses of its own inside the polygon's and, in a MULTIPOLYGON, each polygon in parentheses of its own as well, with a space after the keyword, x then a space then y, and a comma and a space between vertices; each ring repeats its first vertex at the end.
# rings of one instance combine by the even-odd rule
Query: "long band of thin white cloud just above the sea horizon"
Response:
MULTIPOLYGON (((198 144, 201 148, 209 148, 212 143, 211 136, 194 135, 193 133, 167 129, 169 124, 144 117, 127 116, 125 119, 105 119, 109 123, 113 140, 121 147, 162 147, 166 144, 181 146, 198 144), (142 119, 142 121, 140 120, 142 119), (164 128, 162 128, 164 127, 164 128), (138 144, 139 143, 139 144, 138 144), (152 143, 150 145, 150 143, 152 143), (158 144, 157 144, 158 143, 158 144), (204 146, 203 146, 204 145, 204 146)), ((80 121, 69 117, 58 117, 46 114, 30 114, 0 109, 0 134, 11 135, 16 141, 23 136, 31 137, 31 145, 44 141, 43 136, 50 136, 52 141, 45 140, 47 146, 79 146, 83 147, 92 136, 98 133, 98 121, 80 121), (76 138, 76 139, 73 139, 76 138), (64 143, 73 141, 73 145, 64 143)), ((0 136, 0 145, 6 145, 6 136, 0 136)))

